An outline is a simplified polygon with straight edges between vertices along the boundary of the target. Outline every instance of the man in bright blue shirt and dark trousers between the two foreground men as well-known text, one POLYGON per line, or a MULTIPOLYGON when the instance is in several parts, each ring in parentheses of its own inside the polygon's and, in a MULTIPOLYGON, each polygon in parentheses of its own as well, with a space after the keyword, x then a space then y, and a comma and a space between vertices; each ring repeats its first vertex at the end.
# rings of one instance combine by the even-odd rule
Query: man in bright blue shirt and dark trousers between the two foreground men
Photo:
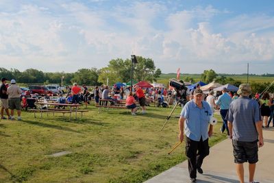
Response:
POLYGON ((218 97, 218 100, 216 101, 216 105, 220 106, 221 110, 220 110, 220 114, 221 117, 223 119, 223 127, 221 127, 221 132, 225 132, 225 129, 227 130, 227 135, 229 136, 229 130, 227 127, 227 120, 225 119, 225 117, 227 116, 227 112, 229 109, 229 105, 232 102, 232 98, 229 96, 229 94, 227 93, 227 88, 223 88, 222 89, 222 93, 223 95, 218 97))

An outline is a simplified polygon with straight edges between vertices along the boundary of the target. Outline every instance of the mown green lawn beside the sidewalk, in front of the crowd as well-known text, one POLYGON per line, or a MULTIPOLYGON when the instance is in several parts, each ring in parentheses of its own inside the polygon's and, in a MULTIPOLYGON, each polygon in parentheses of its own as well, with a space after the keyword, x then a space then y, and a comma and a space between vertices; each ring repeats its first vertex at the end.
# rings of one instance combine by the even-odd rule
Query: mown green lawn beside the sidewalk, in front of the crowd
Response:
MULTIPOLYGON (((167 154, 177 143, 179 107, 163 132, 171 108, 151 106, 136 116, 88 110, 72 121, 69 114, 34 118, 31 112, 23 112, 23 121, 1 120, 0 182, 143 182, 186 159, 184 145, 167 154), (60 151, 72 153, 50 156, 60 151)), ((211 146, 226 138, 220 126, 211 146)))

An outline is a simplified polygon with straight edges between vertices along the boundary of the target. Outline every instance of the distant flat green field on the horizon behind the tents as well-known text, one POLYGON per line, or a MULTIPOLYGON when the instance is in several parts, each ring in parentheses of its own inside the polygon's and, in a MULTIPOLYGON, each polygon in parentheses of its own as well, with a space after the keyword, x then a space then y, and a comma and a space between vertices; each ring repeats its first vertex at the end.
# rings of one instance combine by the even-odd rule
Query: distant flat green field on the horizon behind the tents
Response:
MULTIPOLYGON (((181 74, 180 79, 184 80, 186 77, 192 77, 195 82, 199 82, 201 80, 201 74, 181 74)), ((225 77, 232 77, 236 81, 240 82, 247 82, 247 76, 244 75, 224 75, 225 77)), ((160 75, 160 78, 158 79, 157 82, 163 83, 163 84, 168 84, 170 78, 176 78, 177 74, 176 73, 169 73, 169 74, 162 74, 160 75)), ((249 82, 273 82, 274 77, 263 77, 259 75, 251 75, 249 76, 249 82)))

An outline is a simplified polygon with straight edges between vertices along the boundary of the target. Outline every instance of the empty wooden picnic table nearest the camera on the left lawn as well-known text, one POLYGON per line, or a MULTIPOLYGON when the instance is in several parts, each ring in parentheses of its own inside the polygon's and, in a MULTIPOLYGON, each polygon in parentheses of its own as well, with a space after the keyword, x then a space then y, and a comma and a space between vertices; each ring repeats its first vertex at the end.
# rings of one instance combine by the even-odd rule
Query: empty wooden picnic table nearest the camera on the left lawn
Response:
MULTIPOLYGON (((45 109, 45 110, 40 109, 40 110, 32 110, 32 111, 34 111, 34 115, 35 115, 36 111, 41 112, 41 115, 42 115, 42 112, 53 112, 53 114, 54 114, 54 112, 62 112, 63 115, 64 115, 64 113, 69 113, 70 120, 71 120, 71 112, 75 112, 75 119, 77 119, 77 111, 78 111, 77 107, 81 106, 80 104, 77 104, 77 103, 52 103, 52 102, 42 102, 42 101, 38 101, 36 104, 40 105, 41 108, 42 108, 42 106, 47 106, 47 108, 49 108, 49 106, 61 106, 61 107, 68 106, 69 110, 60 110, 60 109, 51 108, 51 109, 45 109), (73 110, 73 108, 75 108, 75 109, 73 110)), ((82 112, 82 113, 88 112, 88 110, 79 111, 79 112, 82 112)))

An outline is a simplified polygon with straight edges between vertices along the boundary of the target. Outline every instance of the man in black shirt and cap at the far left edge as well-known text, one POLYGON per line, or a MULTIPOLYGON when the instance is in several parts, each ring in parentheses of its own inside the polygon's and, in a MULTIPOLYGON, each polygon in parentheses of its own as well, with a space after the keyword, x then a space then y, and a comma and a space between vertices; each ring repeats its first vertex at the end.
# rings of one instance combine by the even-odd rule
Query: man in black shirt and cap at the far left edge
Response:
POLYGON ((0 97, 1 97, 1 119, 6 119, 4 117, 4 109, 5 112, 8 114, 8 119, 10 119, 10 112, 8 110, 8 94, 7 94, 7 86, 6 86, 6 82, 7 82, 7 78, 2 77, 1 78, 1 86, 0 86, 0 97))

